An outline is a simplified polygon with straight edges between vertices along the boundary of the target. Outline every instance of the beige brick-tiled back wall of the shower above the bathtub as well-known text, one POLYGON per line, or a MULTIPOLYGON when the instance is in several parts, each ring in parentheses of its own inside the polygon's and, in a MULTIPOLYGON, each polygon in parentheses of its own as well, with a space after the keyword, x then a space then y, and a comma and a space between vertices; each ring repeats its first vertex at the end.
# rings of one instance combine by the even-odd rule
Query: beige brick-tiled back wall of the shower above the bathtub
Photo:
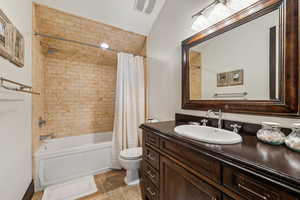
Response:
POLYGON ((46 58, 47 132, 57 137, 111 131, 116 66, 46 58))

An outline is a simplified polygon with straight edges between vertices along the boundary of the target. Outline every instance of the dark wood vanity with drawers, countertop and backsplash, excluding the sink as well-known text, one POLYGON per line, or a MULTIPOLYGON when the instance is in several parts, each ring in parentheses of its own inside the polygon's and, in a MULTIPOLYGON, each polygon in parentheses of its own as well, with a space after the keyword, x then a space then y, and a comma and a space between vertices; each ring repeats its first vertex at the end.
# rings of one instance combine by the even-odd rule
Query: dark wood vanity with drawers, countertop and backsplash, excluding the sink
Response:
POLYGON ((300 200, 300 154, 257 141, 259 125, 238 122, 242 143, 212 145, 174 132, 200 117, 176 118, 141 126, 144 200, 300 200))

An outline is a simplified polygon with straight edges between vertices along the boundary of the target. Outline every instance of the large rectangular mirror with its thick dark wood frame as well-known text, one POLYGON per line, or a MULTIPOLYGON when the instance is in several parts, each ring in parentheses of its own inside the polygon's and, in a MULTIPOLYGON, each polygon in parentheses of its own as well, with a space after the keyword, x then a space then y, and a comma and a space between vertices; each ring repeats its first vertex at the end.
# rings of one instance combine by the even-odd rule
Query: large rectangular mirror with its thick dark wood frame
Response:
POLYGON ((299 2, 261 0, 182 42, 182 108, 299 117, 299 2))

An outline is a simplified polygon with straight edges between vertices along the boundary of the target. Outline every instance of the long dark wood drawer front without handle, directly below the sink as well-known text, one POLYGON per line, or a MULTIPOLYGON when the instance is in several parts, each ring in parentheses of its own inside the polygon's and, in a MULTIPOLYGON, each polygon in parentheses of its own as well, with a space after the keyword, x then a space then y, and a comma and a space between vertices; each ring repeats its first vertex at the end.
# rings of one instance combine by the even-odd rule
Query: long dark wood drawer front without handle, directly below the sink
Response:
POLYGON ((217 160, 164 139, 160 140, 160 149, 200 174, 211 178, 217 183, 221 182, 221 164, 217 160))

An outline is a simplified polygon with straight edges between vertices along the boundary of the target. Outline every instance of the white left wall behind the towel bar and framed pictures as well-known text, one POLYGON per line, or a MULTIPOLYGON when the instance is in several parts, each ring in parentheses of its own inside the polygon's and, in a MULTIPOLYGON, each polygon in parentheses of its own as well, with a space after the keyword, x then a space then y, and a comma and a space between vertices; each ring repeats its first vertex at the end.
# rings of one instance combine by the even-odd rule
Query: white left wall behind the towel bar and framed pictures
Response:
MULTIPOLYGON (((18 68, 0 57, 0 76, 31 85, 32 1, 1 0, 1 9, 25 38, 25 66, 18 68)), ((31 95, 0 89, 1 199, 22 199, 32 179, 31 95), (19 101, 5 101, 18 98, 19 101)))

